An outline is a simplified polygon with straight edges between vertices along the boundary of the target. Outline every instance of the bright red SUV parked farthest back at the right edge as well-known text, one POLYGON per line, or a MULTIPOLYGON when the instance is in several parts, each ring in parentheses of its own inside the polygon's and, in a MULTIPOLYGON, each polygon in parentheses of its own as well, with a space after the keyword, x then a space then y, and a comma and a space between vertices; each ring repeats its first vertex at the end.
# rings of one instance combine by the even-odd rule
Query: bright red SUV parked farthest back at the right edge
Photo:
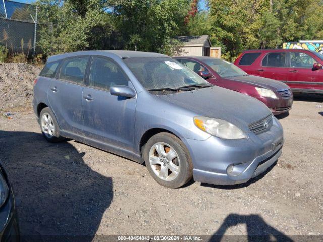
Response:
POLYGON ((323 55, 304 49, 244 51, 236 66, 245 72, 285 82, 293 92, 323 94, 323 55))

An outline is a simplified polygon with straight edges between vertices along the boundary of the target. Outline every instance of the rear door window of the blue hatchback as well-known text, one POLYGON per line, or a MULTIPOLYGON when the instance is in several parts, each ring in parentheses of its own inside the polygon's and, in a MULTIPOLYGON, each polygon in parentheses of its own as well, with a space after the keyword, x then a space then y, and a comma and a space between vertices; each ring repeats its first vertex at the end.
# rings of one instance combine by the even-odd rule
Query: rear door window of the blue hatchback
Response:
POLYGON ((88 59, 89 57, 66 59, 61 68, 60 79, 83 84, 88 59))

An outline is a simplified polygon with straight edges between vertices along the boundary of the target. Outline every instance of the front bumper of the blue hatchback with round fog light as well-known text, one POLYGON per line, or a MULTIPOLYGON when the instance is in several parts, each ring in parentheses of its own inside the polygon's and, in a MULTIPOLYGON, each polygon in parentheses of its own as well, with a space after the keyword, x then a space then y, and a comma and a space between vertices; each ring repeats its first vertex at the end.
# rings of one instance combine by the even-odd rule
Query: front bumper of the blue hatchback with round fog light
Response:
POLYGON ((205 141, 185 139, 193 160, 194 180, 216 185, 245 183, 266 171, 281 156, 283 130, 276 118, 267 132, 248 136, 241 140, 214 136, 205 141))

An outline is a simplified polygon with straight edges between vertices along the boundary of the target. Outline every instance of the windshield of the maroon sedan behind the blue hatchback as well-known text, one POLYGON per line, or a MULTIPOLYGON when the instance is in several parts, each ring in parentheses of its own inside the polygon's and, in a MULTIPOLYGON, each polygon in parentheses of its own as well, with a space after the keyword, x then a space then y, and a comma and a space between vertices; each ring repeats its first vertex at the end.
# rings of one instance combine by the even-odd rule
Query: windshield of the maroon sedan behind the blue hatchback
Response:
POLYGON ((203 59, 208 66, 216 71, 220 77, 237 77, 248 75, 234 64, 223 59, 203 59))

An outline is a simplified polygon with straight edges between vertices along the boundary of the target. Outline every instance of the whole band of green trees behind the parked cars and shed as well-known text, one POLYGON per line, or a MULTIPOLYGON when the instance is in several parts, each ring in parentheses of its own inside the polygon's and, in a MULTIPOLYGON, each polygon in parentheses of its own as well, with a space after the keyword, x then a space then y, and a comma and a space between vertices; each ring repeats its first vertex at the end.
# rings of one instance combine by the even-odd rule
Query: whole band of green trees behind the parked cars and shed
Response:
POLYGON ((129 49, 172 55, 178 35, 210 35, 224 57, 323 38, 322 0, 38 0, 44 55, 129 49))

